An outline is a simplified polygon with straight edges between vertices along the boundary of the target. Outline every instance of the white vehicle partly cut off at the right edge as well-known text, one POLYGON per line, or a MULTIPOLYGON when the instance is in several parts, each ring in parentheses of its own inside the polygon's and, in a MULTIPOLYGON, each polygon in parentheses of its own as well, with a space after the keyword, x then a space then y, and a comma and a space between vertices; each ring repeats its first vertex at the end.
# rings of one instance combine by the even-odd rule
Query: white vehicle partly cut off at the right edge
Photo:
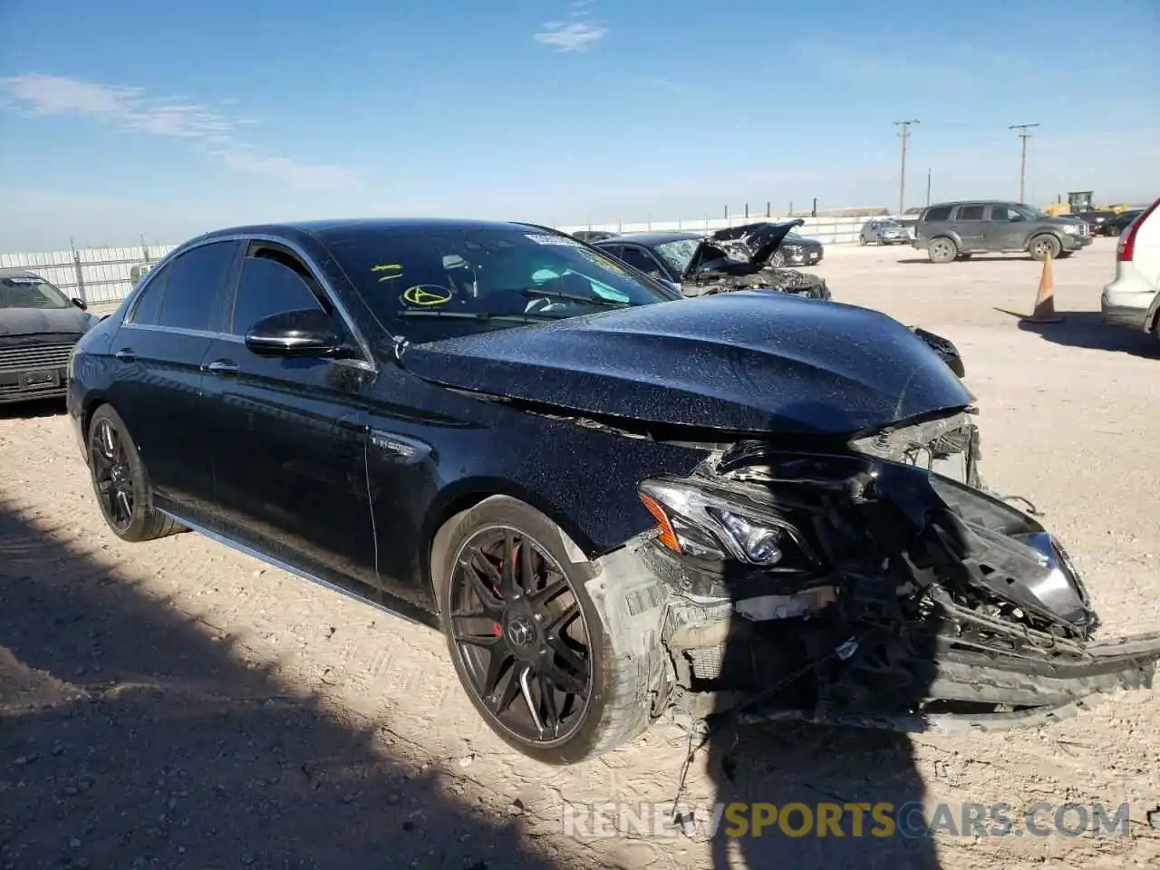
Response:
POLYGON ((1116 277, 1103 289, 1103 320, 1160 339, 1160 200, 1119 234, 1116 277))

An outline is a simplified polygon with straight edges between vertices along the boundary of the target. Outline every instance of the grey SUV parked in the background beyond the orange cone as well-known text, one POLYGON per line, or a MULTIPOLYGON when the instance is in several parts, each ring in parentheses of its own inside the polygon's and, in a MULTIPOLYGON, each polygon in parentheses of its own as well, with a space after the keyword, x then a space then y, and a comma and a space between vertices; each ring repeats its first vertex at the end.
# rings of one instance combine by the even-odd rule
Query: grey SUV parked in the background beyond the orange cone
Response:
POLYGON ((949 202, 922 210, 911 242, 933 263, 966 260, 972 254, 1024 251, 1032 260, 1071 256, 1092 244, 1086 223, 1053 218, 1034 205, 980 200, 949 202))

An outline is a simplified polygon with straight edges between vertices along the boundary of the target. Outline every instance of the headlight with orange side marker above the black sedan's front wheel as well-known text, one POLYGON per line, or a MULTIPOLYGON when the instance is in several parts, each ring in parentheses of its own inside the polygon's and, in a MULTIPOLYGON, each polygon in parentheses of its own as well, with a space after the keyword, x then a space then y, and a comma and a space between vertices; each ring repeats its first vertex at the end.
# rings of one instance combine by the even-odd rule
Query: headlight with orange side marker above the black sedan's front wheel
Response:
POLYGON ((645 480, 640 501, 657 519, 659 541, 676 553, 775 566, 788 556, 817 561, 784 516, 740 493, 680 480, 645 480))

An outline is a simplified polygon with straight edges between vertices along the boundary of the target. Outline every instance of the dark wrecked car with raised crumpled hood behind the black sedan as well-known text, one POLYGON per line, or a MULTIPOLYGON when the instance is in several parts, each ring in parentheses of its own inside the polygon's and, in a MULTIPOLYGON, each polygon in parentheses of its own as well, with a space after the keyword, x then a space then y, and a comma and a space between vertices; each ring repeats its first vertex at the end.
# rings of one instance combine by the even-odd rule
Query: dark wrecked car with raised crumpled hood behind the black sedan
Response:
POLYGON ((817 275, 773 264, 785 238, 802 218, 731 226, 712 233, 648 232, 614 235, 592 242, 684 296, 704 296, 769 288, 811 299, 829 299, 817 275))

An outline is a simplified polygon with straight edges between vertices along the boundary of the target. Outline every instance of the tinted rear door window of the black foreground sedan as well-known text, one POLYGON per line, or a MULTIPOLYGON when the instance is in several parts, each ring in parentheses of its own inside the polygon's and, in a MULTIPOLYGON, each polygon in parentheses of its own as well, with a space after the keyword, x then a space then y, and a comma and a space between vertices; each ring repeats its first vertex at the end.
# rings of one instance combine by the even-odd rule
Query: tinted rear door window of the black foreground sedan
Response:
MULTIPOLYGON (((215 241, 174 259, 166 267, 157 325, 171 329, 215 329, 239 246, 237 241, 215 241)), ((152 283, 147 289, 152 289, 152 283)))

